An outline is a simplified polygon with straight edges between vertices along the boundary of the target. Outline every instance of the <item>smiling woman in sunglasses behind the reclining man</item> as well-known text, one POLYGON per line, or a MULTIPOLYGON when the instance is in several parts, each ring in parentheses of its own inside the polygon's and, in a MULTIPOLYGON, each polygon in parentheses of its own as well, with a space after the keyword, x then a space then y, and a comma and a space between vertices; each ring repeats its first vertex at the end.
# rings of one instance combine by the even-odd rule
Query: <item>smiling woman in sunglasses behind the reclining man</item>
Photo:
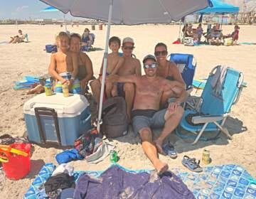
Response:
MULTIPOLYGON (((157 67, 157 75, 160 77, 164 77, 166 80, 176 80, 183 84, 183 87, 186 88, 186 84, 181 77, 181 73, 178 71, 175 63, 169 62, 167 60, 167 46, 164 43, 157 43, 154 49, 154 55, 156 56, 156 60, 158 63, 157 67)), ((174 96, 174 92, 171 90, 168 92, 164 92, 161 97, 161 106, 166 105, 167 100, 174 96)))

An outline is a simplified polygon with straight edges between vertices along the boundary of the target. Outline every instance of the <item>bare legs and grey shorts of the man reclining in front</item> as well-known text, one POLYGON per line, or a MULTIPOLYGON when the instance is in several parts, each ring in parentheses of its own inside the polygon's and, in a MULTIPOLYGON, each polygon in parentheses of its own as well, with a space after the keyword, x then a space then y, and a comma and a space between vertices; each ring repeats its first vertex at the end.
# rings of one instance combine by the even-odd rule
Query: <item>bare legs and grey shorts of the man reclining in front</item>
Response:
POLYGON ((168 165, 159 160, 157 152, 163 153, 161 146, 164 139, 178 126, 182 115, 183 108, 171 103, 167 109, 156 112, 153 117, 134 116, 132 119, 134 131, 141 136, 142 149, 158 173, 167 171, 168 165), (164 127, 159 138, 154 141, 151 127, 164 127))

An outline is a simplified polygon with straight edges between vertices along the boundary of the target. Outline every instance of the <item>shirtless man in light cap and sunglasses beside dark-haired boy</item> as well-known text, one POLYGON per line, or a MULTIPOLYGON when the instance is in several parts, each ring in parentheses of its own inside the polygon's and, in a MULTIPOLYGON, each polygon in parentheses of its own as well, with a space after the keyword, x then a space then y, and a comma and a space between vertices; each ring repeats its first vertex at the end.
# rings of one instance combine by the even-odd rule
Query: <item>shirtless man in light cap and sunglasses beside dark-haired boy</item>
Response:
MULTIPOLYGON (((142 66, 137 58, 132 58, 132 50, 134 49, 134 40, 132 38, 124 38, 122 41, 122 51, 124 63, 119 68, 117 75, 142 75, 142 66)), ((96 102, 100 102, 100 82, 93 81, 90 83, 96 102)), ((114 95, 114 93, 113 93, 114 95)), ((134 84, 130 82, 117 84, 117 95, 124 97, 127 104, 127 114, 130 119, 132 104, 134 100, 134 84)))

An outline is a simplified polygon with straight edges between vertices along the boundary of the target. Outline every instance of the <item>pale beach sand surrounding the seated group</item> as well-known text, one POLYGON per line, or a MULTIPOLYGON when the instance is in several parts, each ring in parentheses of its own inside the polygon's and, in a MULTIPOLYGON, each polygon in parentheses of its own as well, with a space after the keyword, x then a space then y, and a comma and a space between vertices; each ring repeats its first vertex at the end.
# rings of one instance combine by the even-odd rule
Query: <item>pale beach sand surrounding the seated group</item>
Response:
MULTIPOLYGON (((45 45, 55 41, 55 34, 63 31, 60 26, 48 25, 20 25, 23 33, 28 33, 29 43, 0 44, 0 135, 11 134, 23 136, 26 134, 26 125, 23 119, 23 104, 33 97, 26 95, 26 91, 13 90, 14 81, 21 80, 25 75, 45 75, 50 63, 50 53, 46 53, 45 45)), ((71 28, 70 32, 82 33, 84 28, 90 26, 79 26, 71 28)), ((87 53, 93 63, 95 75, 99 73, 102 63, 102 55, 105 48, 105 30, 93 31, 96 35, 95 47, 97 50, 87 53)), ((206 26, 203 27, 206 30, 206 26)), ((9 41, 10 36, 16 35, 16 26, 0 26, 0 42, 9 41)), ((186 47, 184 45, 173 45, 178 38, 179 26, 170 25, 141 25, 141 26, 112 26, 110 36, 134 38, 134 54, 142 60, 144 55, 154 53, 154 45, 164 42, 168 45, 169 53, 192 53, 197 60, 195 78, 207 77, 210 70, 216 65, 227 65, 243 72, 247 87, 242 91, 240 101, 232 107, 226 127, 232 134, 233 140, 221 134, 216 141, 198 141, 191 146, 177 136, 171 135, 169 139, 175 142, 178 150, 178 158, 175 160, 161 156, 163 161, 169 163, 170 168, 184 168, 181 159, 184 155, 201 158, 203 149, 210 150, 212 162, 210 165, 235 163, 244 167, 252 176, 256 177, 256 45, 237 46, 210 46, 201 45, 186 47)), ((231 33, 233 26, 223 26, 223 33, 231 33)), ((240 26, 240 42, 256 42, 256 26, 240 26)), ((193 92, 195 93, 195 92, 193 92)), ((142 151, 139 138, 134 138, 132 131, 127 136, 111 141, 117 146, 117 154, 120 158, 119 164, 124 167, 139 169, 153 168, 150 161, 142 151)), ((29 185, 38 174, 44 163, 55 161, 55 154, 62 149, 53 147, 43 148, 33 144, 31 156, 31 172, 19 181, 6 180, 4 188, 0 190, 0 198, 22 198, 29 185)), ((86 161, 73 161, 75 170, 104 170, 110 166, 109 158, 97 164, 88 164, 86 161)))

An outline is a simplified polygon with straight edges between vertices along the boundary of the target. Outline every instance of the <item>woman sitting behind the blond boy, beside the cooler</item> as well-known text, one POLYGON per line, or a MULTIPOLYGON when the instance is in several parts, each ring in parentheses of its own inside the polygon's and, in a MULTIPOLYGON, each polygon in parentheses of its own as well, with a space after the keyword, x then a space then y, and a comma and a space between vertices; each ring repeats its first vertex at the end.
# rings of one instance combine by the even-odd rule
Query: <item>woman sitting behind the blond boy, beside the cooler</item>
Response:
POLYGON ((70 35, 70 51, 78 56, 78 75, 77 78, 81 84, 81 94, 85 95, 87 92, 87 83, 92 80, 93 70, 92 61, 86 53, 80 51, 81 48, 81 36, 78 33, 72 33, 70 35))

